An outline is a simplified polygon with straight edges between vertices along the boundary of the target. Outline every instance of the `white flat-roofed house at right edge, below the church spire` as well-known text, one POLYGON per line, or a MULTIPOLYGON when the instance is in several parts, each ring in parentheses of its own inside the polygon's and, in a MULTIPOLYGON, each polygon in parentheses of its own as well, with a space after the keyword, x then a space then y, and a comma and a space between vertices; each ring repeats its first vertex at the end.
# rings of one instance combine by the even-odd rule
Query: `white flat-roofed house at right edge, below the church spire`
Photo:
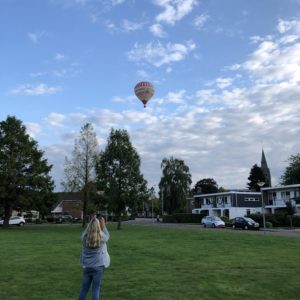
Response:
POLYGON ((261 189, 266 214, 274 214, 285 210, 286 202, 291 201, 300 214, 300 184, 265 187, 261 189))

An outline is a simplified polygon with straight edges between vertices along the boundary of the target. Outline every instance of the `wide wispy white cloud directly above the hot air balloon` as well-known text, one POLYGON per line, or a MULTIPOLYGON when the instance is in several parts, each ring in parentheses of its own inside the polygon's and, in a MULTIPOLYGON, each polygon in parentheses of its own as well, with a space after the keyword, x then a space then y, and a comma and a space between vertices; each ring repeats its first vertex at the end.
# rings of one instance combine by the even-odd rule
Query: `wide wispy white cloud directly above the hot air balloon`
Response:
POLYGON ((196 48, 192 42, 185 44, 151 42, 146 45, 136 43, 128 53, 128 59, 135 62, 148 62, 156 67, 164 64, 171 64, 186 58, 186 56, 196 48))

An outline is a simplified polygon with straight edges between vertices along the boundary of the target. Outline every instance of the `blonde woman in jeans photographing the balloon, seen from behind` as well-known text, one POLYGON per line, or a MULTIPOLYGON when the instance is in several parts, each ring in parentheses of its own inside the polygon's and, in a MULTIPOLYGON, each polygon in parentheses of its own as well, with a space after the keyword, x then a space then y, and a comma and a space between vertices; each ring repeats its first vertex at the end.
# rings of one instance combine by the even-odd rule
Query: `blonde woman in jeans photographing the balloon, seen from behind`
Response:
POLYGON ((109 232, 105 226, 105 220, 100 222, 92 218, 86 230, 81 236, 82 253, 80 262, 83 267, 83 280, 78 300, 85 300, 92 284, 92 300, 100 299, 100 287, 107 260, 106 242, 109 240, 109 232))

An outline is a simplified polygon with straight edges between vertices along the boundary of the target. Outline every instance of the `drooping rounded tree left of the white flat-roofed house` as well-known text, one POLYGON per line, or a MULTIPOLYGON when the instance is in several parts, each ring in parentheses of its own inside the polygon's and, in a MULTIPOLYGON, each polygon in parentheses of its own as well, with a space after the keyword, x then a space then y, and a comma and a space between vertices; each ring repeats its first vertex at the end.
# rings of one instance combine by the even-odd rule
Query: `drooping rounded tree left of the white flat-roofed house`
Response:
POLYGON ((163 201, 163 209, 172 214, 175 211, 183 211, 186 204, 186 196, 192 183, 189 167, 181 159, 164 158, 161 163, 162 177, 159 188, 163 201))

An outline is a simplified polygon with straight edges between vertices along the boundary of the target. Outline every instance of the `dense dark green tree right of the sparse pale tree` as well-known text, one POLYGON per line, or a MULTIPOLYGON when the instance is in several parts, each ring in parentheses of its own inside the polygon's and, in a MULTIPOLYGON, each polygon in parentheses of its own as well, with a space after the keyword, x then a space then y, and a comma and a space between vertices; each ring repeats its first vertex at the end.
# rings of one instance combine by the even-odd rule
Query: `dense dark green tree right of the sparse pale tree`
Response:
POLYGON ((127 131, 112 129, 107 146, 97 160, 96 174, 98 188, 104 191, 108 208, 117 217, 118 229, 121 229, 122 213, 148 197, 140 165, 140 157, 127 131))

